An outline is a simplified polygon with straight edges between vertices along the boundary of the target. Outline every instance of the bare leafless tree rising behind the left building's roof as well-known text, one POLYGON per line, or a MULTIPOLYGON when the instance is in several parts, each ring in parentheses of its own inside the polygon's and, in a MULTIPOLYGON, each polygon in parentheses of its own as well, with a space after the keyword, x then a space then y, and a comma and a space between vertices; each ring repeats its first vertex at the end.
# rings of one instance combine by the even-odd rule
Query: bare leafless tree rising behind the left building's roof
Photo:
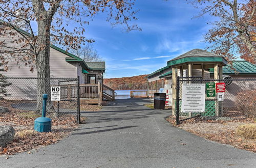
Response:
POLYGON ((71 52, 86 62, 103 61, 100 58, 98 51, 93 48, 92 43, 87 43, 86 46, 83 46, 80 49, 72 50, 71 52))

